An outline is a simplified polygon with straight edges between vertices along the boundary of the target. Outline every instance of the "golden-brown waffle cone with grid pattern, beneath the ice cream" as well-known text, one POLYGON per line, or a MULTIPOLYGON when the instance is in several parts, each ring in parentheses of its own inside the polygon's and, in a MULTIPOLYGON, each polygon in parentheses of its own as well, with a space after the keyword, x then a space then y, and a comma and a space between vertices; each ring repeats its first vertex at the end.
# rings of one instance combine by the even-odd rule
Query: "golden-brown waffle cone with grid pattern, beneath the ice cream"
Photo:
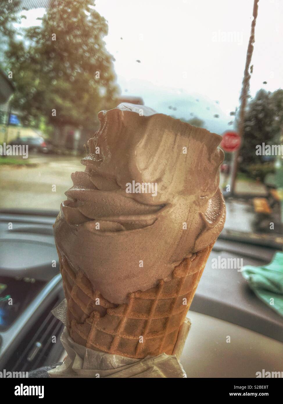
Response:
POLYGON ((82 271, 75 272, 58 252, 73 341, 130 358, 171 355, 213 244, 184 258, 168 282, 132 292, 119 305, 93 290, 82 271))

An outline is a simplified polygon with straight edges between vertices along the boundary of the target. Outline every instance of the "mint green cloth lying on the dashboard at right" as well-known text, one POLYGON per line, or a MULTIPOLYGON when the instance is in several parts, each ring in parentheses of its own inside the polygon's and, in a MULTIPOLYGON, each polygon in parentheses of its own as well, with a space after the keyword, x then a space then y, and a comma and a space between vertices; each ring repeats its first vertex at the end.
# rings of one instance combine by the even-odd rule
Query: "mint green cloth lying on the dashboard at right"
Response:
POLYGON ((276 252, 268 265, 246 265, 242 275, 257 297, 283 316, 283 252, 276 252))

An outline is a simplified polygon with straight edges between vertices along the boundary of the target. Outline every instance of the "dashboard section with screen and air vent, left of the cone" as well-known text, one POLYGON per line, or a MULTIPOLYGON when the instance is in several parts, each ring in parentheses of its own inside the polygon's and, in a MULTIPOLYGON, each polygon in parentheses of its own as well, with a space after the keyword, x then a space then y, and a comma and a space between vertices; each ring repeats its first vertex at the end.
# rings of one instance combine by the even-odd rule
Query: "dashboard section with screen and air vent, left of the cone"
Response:
POLYGON ((0 215, 0 369, 29 371, 58 362, 63 299, 54 216, 0 215))

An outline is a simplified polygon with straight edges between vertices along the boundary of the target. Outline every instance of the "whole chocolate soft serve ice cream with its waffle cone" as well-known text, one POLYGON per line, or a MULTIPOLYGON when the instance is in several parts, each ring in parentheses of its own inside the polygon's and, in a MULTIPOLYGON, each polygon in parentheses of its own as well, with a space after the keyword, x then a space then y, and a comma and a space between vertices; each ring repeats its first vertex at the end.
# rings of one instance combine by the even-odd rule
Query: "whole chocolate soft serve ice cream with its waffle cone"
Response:
POLYGON ((94 350, 170 355, 224 226, 221 137, 143 105, 99 120, 54 225, 67 328, 94 350))

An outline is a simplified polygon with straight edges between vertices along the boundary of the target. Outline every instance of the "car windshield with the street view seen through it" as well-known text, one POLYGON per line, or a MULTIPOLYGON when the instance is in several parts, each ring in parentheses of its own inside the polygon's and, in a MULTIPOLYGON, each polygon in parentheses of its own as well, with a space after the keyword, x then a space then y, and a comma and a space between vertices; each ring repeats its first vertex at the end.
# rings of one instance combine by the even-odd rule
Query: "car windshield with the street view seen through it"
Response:
POLYGON ((282 246, 282 2, 29 3, 0 6, 1 209, 59 211, 99 111, 144 104, 223 137, 222 235, 282 246))

